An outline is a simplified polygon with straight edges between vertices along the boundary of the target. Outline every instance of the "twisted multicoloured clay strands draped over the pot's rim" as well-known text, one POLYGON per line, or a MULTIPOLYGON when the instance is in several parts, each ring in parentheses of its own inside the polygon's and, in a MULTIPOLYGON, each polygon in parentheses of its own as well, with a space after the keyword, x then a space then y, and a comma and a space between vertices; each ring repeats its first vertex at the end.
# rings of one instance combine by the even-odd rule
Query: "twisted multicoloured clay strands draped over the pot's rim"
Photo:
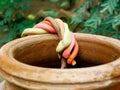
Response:
POLYGON ((61 68, 65 68, 66 64, 76 65, 74 60, 78 54, 78 43, 74 34, 70 32, 68 24, 61 19, 53 19, 46 17, 42 22, 36 24, 33 28, 27 28, 23 31, 22 37, 38 34, 57 34, 60 42, 56 48, 58 57, 61 60, 61 68))

